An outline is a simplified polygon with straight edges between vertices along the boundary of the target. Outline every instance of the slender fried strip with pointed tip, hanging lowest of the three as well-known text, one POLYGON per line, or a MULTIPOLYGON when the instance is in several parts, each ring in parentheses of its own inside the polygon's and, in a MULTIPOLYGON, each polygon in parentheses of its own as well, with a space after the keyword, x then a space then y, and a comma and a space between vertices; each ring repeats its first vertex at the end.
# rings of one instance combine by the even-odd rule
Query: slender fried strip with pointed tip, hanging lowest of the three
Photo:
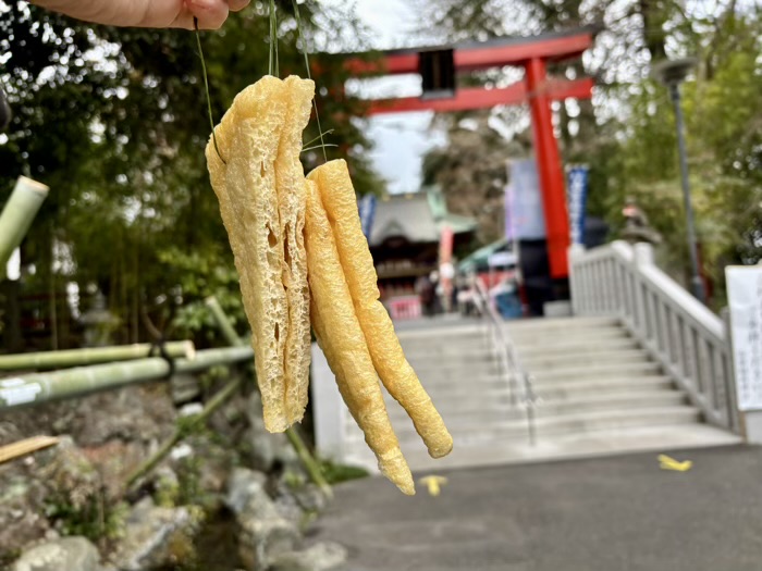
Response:
POLYGON ((307 181, 307 264, 312 324, 339 390, 365 439, 376 454, 381 472, 403 493, 415 494, 410 469, 386 414, 381 387, 357 321, 349 287, 320 195, 307 181))

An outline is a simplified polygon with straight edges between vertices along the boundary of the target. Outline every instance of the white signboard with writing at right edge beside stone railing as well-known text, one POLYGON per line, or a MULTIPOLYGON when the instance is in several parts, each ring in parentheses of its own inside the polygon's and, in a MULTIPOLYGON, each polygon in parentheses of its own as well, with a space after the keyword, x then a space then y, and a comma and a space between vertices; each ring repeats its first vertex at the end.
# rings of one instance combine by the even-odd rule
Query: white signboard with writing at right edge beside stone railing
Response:
POLYGON ((725 269, 739 410, 762 410, 762 266, 725 269))

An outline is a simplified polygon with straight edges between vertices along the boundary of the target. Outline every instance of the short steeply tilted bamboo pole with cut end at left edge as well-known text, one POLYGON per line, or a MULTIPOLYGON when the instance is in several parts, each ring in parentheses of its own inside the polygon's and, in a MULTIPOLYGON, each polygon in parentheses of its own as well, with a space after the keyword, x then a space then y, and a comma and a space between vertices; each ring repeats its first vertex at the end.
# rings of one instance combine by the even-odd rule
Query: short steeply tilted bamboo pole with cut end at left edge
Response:
POLYGON ((32 221, 48 196, 49 188, 42 183, 20 176, 11 198, 0 214, 0 271, 5 275, 5 264, 29 232, 32 221))

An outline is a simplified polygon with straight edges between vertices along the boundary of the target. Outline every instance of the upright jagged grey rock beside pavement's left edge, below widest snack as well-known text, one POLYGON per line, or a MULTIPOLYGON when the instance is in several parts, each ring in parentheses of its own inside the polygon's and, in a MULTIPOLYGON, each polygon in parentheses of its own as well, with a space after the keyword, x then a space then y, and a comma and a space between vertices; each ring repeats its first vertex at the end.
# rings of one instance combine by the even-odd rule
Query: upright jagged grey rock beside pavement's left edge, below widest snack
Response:
POLYGON ((229 482, 225 504, 239 527, 241 560, 250 571, 267 569, 278 556, 294 549, 299 541, 296 524, 281 516, 266 491, 267 476, 236 468, 229 482))

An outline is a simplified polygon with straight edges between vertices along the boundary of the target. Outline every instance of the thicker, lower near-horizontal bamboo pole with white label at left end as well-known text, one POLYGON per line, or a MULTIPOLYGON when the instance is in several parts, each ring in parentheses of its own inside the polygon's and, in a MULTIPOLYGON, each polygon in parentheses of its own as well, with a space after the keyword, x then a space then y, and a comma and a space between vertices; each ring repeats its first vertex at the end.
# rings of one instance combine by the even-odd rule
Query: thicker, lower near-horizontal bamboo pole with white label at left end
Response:
MULTIPOLYGON (((248 347, 206 349, 195 359, 176 359, 174 370, 196 373, 218 364, 232 364, 251 359, 248 347)), ((51 373, 23 374, 0 378, 0 412, 50 400, 78 397, 89 393, 111 390, 125 385, 159 381, 170 373, 170 364, 161 357, 136 359, 120 363, 77 367, 51 373)))

